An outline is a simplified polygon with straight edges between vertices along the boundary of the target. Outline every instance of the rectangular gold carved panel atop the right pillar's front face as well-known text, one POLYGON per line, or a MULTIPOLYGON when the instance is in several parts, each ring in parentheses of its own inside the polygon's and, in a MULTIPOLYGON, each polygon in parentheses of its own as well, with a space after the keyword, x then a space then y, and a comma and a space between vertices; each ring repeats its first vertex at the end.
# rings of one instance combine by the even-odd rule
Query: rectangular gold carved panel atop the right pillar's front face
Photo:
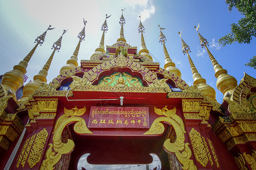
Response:
POLYGON ((200 112, 200 101, 195 99, 182 100, 183 112, 200 112))

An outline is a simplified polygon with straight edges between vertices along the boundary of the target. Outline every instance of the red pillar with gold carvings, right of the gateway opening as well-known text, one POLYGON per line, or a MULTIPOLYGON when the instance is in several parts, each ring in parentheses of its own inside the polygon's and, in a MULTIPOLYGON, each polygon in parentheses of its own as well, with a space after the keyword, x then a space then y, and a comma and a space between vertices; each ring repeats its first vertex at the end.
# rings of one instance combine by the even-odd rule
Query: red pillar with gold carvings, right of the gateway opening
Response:
POLYGON ((201 169, 220 167, 216 150, 209 138, 208 124, 212 105, 204 99, 182 99, 185 126, 195 156, 196 165, 201 169))

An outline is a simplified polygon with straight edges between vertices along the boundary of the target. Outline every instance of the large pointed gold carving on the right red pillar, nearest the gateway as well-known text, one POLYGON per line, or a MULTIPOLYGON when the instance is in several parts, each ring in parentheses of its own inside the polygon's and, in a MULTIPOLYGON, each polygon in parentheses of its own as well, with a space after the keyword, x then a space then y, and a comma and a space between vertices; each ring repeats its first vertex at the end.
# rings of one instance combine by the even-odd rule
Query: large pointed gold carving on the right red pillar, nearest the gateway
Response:
POLYGON ((206 167, 209 159, 207 156, 207 150, 204 147, 204 142, 201 137, 201 134, 197 130, 192 128, 191 131, 189 132, 189 137, 191 139, 191 144, 193 147, 196 160, 201 165, 203 165, 203 167, 206 167))

